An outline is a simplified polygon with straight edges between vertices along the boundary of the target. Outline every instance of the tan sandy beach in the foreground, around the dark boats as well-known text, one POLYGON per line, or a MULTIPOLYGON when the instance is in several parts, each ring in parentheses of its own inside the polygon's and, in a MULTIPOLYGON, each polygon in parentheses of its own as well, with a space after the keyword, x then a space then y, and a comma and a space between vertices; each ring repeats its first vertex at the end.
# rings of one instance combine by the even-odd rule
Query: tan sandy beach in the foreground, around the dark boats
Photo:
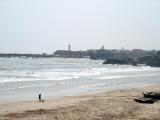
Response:
POLYGON ((140 104, 142 91, 160 85, 83 96, 0 104, 0 120, 160 120, 160 102, 140 104))

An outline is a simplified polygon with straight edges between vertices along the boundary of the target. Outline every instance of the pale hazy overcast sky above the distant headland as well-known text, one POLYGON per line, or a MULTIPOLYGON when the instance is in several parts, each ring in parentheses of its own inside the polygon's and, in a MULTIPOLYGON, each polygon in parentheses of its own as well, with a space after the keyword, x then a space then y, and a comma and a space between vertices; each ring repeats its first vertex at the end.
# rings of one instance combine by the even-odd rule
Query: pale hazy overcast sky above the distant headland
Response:
POLYGON ((160 49, 160 0, 0 0, 0 53, 160 49))

